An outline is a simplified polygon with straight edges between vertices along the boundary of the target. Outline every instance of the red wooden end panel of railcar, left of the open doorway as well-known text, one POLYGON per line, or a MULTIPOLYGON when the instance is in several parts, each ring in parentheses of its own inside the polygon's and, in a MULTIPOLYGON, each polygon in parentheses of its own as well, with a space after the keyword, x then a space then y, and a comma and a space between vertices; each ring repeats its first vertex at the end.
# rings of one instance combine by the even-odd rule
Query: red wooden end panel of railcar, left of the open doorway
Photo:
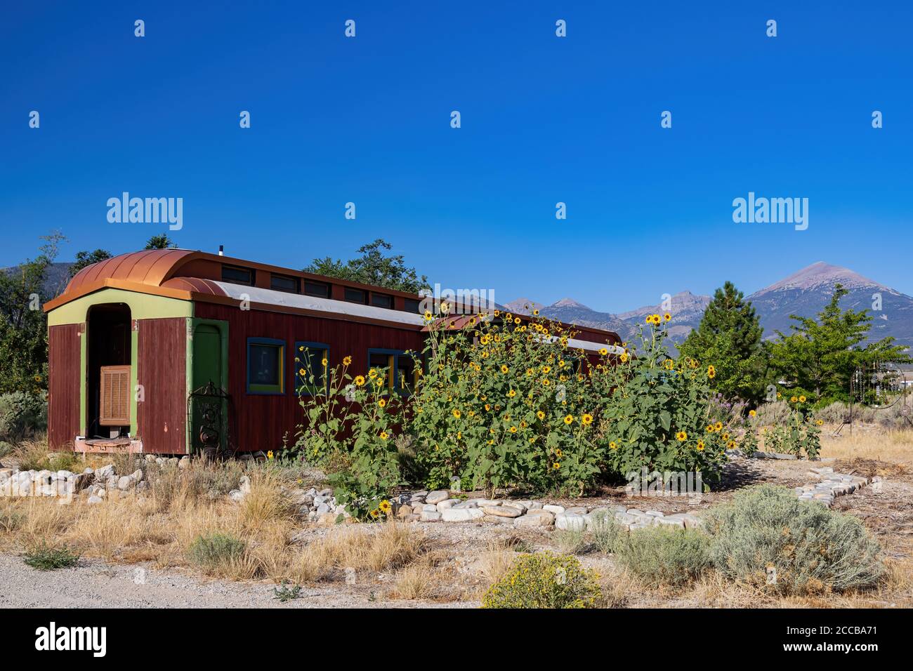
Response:
POLYGON ((47 331, 47 445, 73 449, 79 435, 79 324, 52 326, 47 331))

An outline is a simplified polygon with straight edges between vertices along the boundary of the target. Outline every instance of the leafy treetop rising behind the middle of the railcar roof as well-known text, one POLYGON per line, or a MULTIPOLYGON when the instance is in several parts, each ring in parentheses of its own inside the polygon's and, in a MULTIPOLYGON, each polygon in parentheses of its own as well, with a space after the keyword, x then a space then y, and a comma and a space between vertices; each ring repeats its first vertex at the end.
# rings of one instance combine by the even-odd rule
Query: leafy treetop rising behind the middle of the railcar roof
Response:
POLYGON ((428 278, 424 275, 418 277, 415 268, 406 267, 403 255, 397 254, 386 257, 383 249, 389 250, 392 246, 382 238, 377 238, 373 243, 359 247, 361 257, 349 261, 341 261, 331 257, 315 258, 310 266, 304 268, 307 273, 326 275, 331 278, 348 279, 353 282, 362 282, 375 287, 394 289, 395 291, 408 291, 418 293, 420 289, 430 288, 428 278))

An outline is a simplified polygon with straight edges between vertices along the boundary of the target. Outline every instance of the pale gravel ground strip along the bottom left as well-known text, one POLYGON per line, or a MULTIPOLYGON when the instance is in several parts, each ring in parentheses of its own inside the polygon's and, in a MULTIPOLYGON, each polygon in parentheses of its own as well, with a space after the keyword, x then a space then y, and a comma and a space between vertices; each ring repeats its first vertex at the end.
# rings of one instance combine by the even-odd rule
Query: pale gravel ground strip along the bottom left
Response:
MULTIPOLYGON (((272 583, 205 580, 180 571, 82 560, 73 569, 36 571, 16 555, 0 554, 2 608, 427 608, 477 603, 372 599, 372 585, 334 582, 303 587, 299 599, 279 603, 272 583), (139 577, 138 577, 139 576, 139 577), (139 584, 138 584, 139 582, 139 584)), ((376 594, 381 593, 377 590, 376 594)))

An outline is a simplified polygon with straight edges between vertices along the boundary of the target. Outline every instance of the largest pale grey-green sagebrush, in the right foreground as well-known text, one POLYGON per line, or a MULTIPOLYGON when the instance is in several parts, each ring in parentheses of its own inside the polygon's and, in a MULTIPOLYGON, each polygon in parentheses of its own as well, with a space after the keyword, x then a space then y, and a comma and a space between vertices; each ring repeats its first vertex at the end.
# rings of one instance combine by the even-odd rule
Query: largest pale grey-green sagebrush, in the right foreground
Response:
POLYGON ((884 571, 880 547, 858 519, 799 501, 786 488, 739 492, 710 511, 708 529, 718 571, 776 592, 862 588, 884 571))

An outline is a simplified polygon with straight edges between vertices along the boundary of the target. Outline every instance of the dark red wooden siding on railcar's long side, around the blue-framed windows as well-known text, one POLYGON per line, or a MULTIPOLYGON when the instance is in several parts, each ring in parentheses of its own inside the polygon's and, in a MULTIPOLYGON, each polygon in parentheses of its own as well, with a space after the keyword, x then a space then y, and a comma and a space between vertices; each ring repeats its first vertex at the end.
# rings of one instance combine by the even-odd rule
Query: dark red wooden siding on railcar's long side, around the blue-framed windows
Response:
MULTIPOLYGON (((198 302, 194 315, 228 322, 228 393, 232 397, 235 423, 231 441, 239 451, 271 450, 289 444, 301 421, 301 407, 294 389, 295 341, 323 342, 330 346, 330 366, 352 357, 352 375, 367 372, 368 350, 422 351, 424 334, 373 324, 198 302), (275 338, 286 342, 285 393, 280 396, 247 393, 247 338, 275 338)), ((147 396, 148 398, 148 396, 147 396)))

